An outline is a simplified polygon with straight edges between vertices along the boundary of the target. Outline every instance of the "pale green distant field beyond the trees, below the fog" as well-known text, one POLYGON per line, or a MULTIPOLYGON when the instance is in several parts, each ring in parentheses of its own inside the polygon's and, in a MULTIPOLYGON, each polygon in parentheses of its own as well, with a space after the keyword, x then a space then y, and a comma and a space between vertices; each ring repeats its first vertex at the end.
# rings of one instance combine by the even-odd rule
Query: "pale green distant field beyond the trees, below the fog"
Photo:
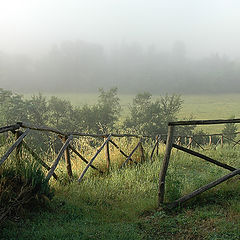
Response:
MULTIPOLYGON (((54 93, 44 94, 47 97, 55 95, 60 98, 71 101, 75 106, 84 104, 95 104, 98 94, 87 93, 54 93)), ((31 94, 26 94, 30 97, 31 94)), ((128 105, 132 102, 134 95, 119 95, 121 106, 123 108, 122 115, 128 112, 128 105)), ((157 96, 153 96, 156 99, 157 96)), ((232 116, 240 118, 240 94, 213 94, 213 95, 182 95, 183 108, 179 113, 179 120, 192 117, 193 119, 227 119, 232 116)), ((222 125, 201 127, 209 133, 221 132, 222 125)))

